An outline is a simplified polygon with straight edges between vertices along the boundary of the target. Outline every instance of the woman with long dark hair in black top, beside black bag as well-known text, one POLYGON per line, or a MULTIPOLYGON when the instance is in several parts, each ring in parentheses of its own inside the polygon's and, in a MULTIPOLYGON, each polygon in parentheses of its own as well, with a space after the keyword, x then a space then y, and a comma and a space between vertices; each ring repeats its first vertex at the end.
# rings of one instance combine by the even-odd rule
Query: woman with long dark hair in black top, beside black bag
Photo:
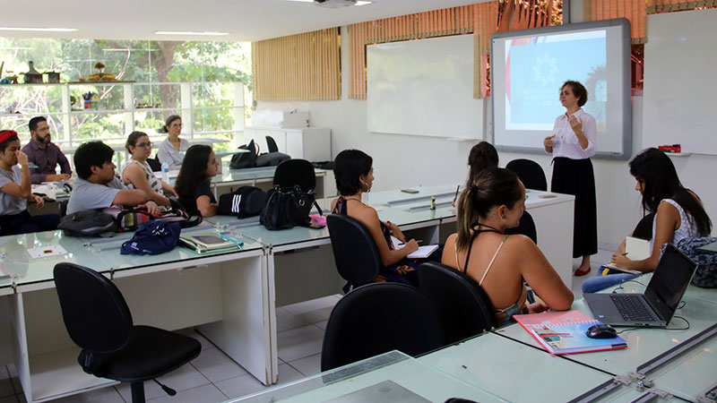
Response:
POLYGON ((218 169, 219 163, 212 147, 194 144, 186 150, 174 186, 179 201, 186 210, 199 210, 202 217, 212 217, 217 214, 217 200, 214 198, 210 180, 217 175, 218 169))

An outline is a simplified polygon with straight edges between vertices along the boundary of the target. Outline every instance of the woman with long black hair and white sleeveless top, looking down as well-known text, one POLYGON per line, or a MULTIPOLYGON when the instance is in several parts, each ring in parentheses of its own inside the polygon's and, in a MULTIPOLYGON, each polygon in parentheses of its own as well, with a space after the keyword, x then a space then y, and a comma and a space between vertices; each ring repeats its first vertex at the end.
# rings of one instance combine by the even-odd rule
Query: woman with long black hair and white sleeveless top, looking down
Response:
MULTIPOLYGON (((630 161, 630 174, 635 176, 635 191, 643 195, 643 210, 652 214, 652 253, 644 260, 633 261, 625 255, 625 241, 613 253, 611 262, 628 270, 652 271, 660 262, 662 245, 678 244, 685 238, 710 236, 712 221, 702 201, 679 182, 672 160, 661 150, 643 150, 630 161)), ((639 226, 638 226, 639 227, 639 226)), ((593 293, 620 281, 633 279, 635 274, 613 274, 587 279, 583 293, 593 293)))

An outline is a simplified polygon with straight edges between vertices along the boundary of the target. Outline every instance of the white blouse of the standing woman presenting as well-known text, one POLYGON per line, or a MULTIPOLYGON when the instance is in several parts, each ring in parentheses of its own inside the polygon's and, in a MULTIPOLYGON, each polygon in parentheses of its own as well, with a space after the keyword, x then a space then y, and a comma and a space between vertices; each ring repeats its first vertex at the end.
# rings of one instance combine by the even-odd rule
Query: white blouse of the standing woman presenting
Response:
POLYGON ((566 157, 568 159, 589 159, 598 150, 598 126, 595 124, 595 118, 590 114, 578 109, 573 114, 578 120, 583 122, 583 133, 588 138, 588 147, 583 150, 580 141, 570 122, 567 120, 567 114, 557 116, 555 125, 553 125, 553 157, 566 157))

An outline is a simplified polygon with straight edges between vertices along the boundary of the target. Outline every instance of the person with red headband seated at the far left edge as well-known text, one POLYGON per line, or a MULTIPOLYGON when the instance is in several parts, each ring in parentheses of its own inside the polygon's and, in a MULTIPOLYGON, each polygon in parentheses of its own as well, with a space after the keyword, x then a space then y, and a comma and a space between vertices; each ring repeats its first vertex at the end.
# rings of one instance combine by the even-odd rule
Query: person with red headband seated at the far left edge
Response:
POLYGON ((0 131, 0 236, 48 231, 57 227, 59 214, 30 216, 28 201, 37 203, 38 210, 45 204, 30 189, 28 156, 20 150, 17 133, 14 130, 0 131))

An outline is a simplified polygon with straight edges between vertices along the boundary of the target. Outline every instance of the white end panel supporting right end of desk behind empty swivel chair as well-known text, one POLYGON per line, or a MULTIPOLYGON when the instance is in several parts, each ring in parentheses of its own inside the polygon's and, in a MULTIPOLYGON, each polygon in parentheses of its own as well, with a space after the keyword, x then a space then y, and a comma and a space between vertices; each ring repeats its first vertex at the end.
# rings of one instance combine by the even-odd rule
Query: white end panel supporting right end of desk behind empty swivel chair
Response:
POLYGON ((197 328, 265 385, 276 382, 276 330, 268 256, 222 265, 222 321, 197 328))

